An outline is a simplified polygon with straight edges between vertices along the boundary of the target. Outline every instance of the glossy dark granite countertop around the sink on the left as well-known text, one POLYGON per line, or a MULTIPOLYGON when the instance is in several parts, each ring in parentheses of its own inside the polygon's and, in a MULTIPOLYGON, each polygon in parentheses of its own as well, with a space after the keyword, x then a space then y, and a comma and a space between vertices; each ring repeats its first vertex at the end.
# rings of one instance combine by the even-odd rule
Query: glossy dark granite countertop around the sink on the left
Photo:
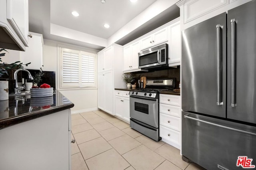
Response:
POLYGON ((60 92, 51 97, 9 96, 0 101, 0 129, 74 107, 60 92))

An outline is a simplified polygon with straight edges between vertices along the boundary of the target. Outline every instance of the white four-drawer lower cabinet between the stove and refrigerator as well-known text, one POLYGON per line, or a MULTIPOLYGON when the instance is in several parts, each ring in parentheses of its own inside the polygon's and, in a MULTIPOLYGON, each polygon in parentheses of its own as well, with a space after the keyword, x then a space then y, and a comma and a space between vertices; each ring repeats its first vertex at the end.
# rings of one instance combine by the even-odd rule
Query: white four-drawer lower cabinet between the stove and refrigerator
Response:
POLYGON ((160 137, 164 142, 180 149, 180 96, 160 94, 159 112, 160 137))

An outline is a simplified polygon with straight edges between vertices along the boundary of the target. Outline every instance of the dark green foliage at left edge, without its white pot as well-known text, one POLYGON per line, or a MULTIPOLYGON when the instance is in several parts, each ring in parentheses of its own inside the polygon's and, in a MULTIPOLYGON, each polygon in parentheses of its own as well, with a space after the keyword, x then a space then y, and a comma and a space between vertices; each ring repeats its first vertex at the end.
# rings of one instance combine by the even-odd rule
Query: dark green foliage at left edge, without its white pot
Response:
MULTIPOLYGON (((3 53, 2 51, 6 51, 6 49, 1 48, 0 49, 0 57, 4 56, 6 53, 3 53), (1 53, 2 52, 2 53, 1 53)), ((8 52, 8 51, 6 51, 8 52)), ((2 58, 0 58, 0 62, 2 62, 2 58)), ((0 63, 0 77, 4 76, 4 75, 8 75, 8 70, 12 70, 12 69, 23 69, 23 65, 28 66, 30 63, 27 64, 23 64, 20 61, 16 61, 14 63, 0 63)))

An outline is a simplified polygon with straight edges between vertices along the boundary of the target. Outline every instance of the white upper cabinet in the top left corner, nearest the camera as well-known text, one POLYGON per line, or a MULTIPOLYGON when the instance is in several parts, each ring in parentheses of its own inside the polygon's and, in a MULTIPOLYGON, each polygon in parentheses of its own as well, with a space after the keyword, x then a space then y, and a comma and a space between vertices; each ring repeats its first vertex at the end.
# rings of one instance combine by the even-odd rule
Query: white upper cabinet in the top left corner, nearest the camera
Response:
POLYGON ((1 0, 0 47, 25 51, 28 46, 28 0, 1 0))

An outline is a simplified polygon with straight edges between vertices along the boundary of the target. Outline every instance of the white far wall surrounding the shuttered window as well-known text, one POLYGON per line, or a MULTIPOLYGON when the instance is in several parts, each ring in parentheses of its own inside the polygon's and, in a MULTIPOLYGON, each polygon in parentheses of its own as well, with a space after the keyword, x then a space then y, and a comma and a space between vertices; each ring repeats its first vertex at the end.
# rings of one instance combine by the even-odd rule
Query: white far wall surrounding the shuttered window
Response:
MULTIPOLYGON (((68 45, 75 48, 88 49, 84 47, 79 47, 76 45, 71 45, 67 43, 60 43, 52 40, 44 39, 43 46, 43 63, 44 63, 44 71, 55 71, 56 72, 56 81, 58 79, 58 49, 57 45, 68 45)), ((96 51, 95 49, 89 49, 91 51, 96 51)), ((96 51, 97 52, 97 51, 96 51)), ((56 82, 56 87, 58 84, 56 82)), ((91 111, 98 109, 98 89, 83 89, 83 90, 61 90, 58 89, 65 97, 67 97, 72 103, 74 103, 74 107, 71 108, 72 113, 82 113, 85 111, 91 111)))

